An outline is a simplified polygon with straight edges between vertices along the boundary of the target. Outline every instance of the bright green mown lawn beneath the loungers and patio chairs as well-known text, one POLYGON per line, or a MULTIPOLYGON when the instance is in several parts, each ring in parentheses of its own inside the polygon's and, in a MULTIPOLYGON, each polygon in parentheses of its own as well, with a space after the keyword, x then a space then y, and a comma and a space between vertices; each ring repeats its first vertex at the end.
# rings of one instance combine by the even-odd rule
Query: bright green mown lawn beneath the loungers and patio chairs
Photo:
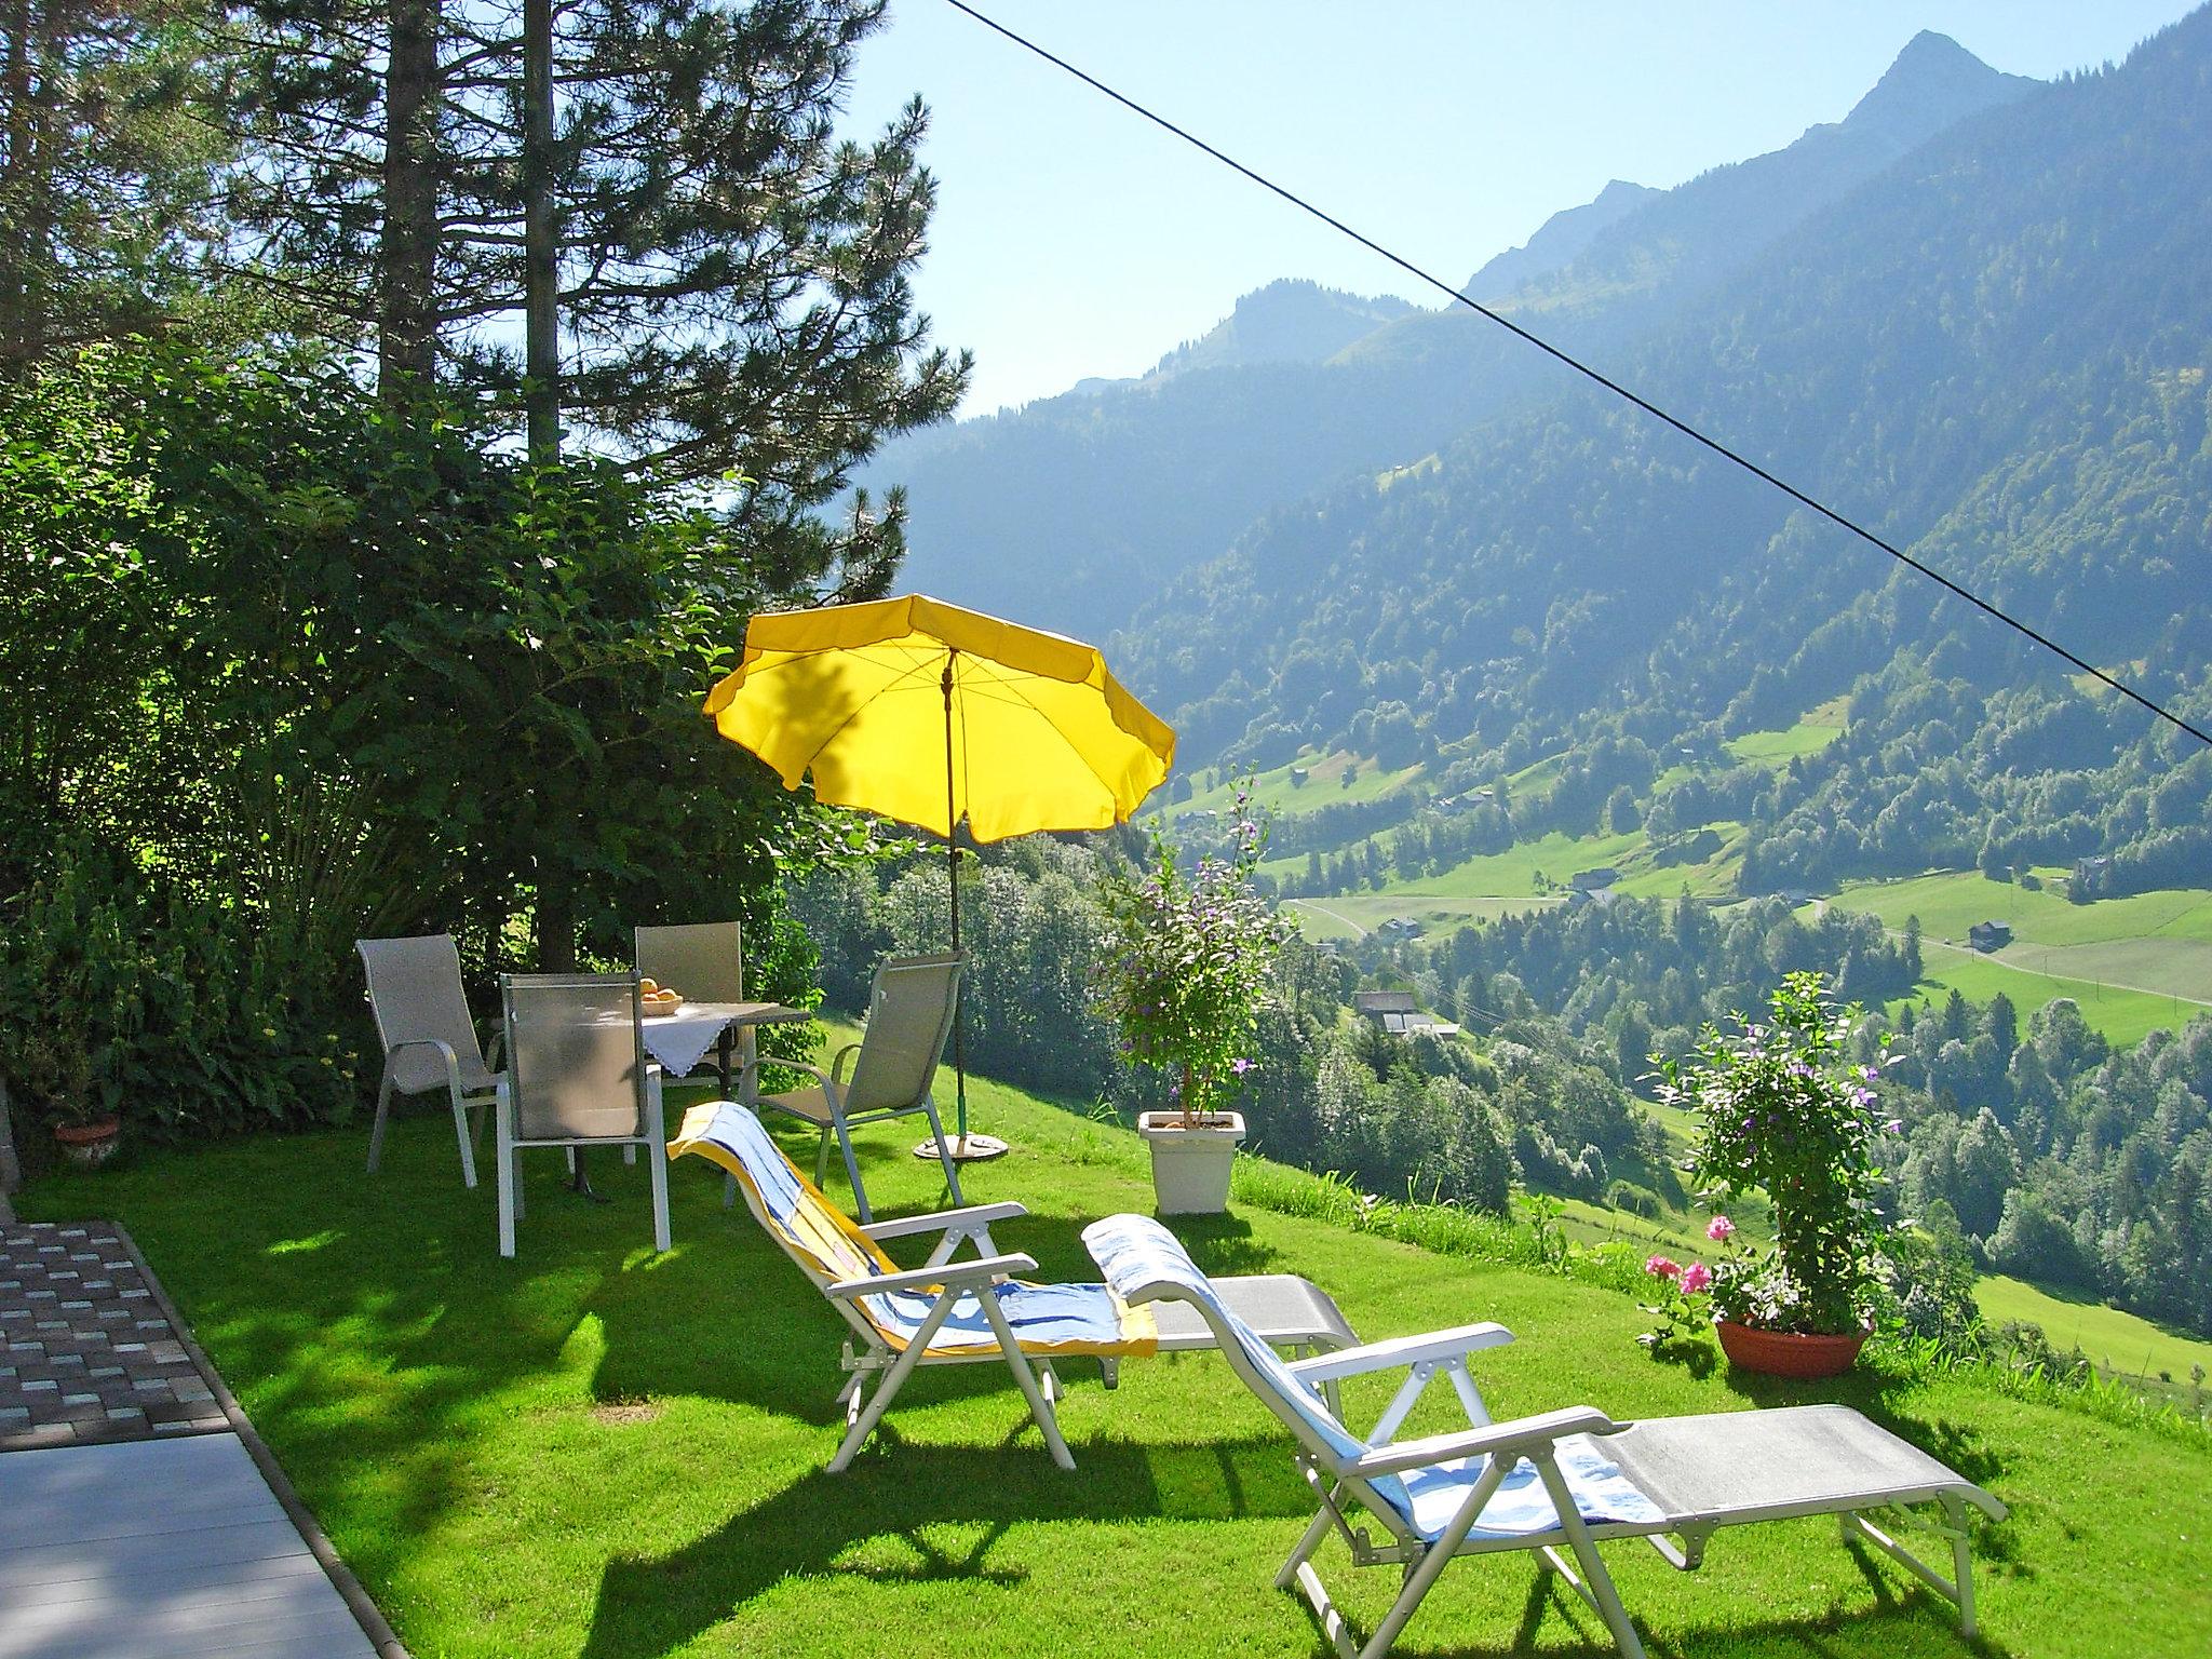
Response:
MULTIPOLYGON (((1015 1144, 973 1166, 971 1201, 1029 1201, 1000 1243, 1084 1274, 1079 1228, 1150 1203, 1139 1144, 991 1084, 971 1097, 1015 1144)), ((936 1199, 911 1141, 865 1135, 887 1212, 936 1199)), ((672 1172, 677 1248, 655 1259, 644 1170, 599 1159, 615 1201, 595 1208, 542 1155, 520 1261, 502 1263, 491 1192, 462 1192, 449 1126, 400 1121, 374 1179, 363 1148, 352 1128, 144 1152, 33 1186, 22 1210, 133 1230, 420 1659, 1325 1655, 1270 1586, 1310 1495, 1217 1356, 1130 1363, 1113 1394, 1066 1367, 1073 1475, 993 1367, 918 1374, 891 1433, 827 1475, 843 1327, 743 1210, 721 1210, 703 1164, 672 1172)), ((1617 1292, 1256 1208, 1179 1232, 1219 1272, 1314 1276, 1371 1338, 1504 1321, 1522 1340, 1480 1360, 1500 1416, 1845 1398, 2013 1506, 1975 1524, 1980 1648, 1834 1522, 1730 1533, 1697 1577, 1610 1546, 1659 1655, 2132 1659, 2203 1652, 2212 1632, 2212 1449, 2190 1433, 1880 1360, 1838 1385, 1699 1376, 1646 1358, 1617 1292)), ((1354 1407, 1380 1400, 1367 1387, 1354 1407)), ((1318 1566, 1369 1626, 1396 1590, 1334 1542, 1318 1566)), ((1526 1557, 1484 1557, 1444 1575, 1398 1650, 1610 1648, 1526 1557)))

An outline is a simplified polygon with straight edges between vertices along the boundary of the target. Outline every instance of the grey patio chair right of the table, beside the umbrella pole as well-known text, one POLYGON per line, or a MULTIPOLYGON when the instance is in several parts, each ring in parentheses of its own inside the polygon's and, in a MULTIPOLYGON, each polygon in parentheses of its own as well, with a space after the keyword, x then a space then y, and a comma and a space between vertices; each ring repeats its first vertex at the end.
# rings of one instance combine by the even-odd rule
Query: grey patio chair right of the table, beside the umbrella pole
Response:
MULTIPOLYGON (((847 1042, 838 1048, 830 1060, 830 1071, 796 1060, 765 1062, 814 1077, 814 1088, 761 1095, 759 1104, 768 1110, 803 1117, 821 1128, 823 1139, 814 1155, 816 1188, 830 1172, 830 1137, 836 1135, 845 1152, 845 1175, 852 1179, 852 1201, 860 1210, 863 1223, 874 1221, 876 1214, 867 1206, 860 1161, 852 1150, 854 1124, 880 1124, 914 1113, 927 1117, 938 1164, 945 1170, 945 1186, 956 1206, 967 1203, 960 1197, 960 1170, 953 1168, 951 1150, 945 1146, 938 1104, 929 1097, 929 1086, 938 1075, 938 1055, 945 1053, 945 1033, 953 1029, 962 962, 964 958, 956 953, 887 958, 876 967, 876 984, 867 998, 867 1029, 860 1033, 860 1042, 847 1042), (845 1075, 847 1060, 852 1077, 845 1075)), ((757 1073, 761 1064, 761 1060, 752 1060, 745 1071, 757 1073)), ((748 1088, 752 1082, 748 1077, 748 1088)))

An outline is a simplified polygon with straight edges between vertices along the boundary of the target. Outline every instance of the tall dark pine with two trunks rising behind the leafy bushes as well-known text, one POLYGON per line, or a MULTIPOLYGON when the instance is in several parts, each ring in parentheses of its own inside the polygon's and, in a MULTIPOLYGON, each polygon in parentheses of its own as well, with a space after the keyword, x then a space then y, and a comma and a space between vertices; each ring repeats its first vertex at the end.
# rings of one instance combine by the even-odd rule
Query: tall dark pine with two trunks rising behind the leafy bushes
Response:
POLYGON ((909 288, 927 113, 865 144, 834 126, 880 20, 880 0, 276 0, 234 35, 254 150, 232 201, 274 281, 374 338, 387 394, 445 380, 529 411, 542 456, 566 436, 717 493, 772 591, 838 564, 876 591, 902 504, 836 531, 816 509, 967 376, 909 288))

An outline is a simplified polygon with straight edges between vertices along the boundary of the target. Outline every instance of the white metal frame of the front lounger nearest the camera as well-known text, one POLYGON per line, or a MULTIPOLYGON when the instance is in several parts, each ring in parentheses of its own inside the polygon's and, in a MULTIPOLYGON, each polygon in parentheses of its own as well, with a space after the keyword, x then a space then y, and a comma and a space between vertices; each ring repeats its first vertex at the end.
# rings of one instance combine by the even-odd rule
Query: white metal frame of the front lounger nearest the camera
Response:
MULTIPOLYGON (((1816 1500, 1747 1504, 1703 1513, 1679 1513, 1668 1509, 1668 1513, 1655 1522, 1586 1522, 1555 1458, 1559 1440, 1568 1436, 1632 1436, 1637 1429, 1666 1431, 1666 1425, 1719 1425, 1730 1418, 1736 1422, 1761 1416, 1778 1418, 1787 1416, 1787 1411, 1739 1411, 1721 1413, 1719 1418, 1657 1418, 1650 1425, 1637 1425, 1615 1422, 1595 1407, 1568 1407, 1564 1411, 1546 1411, 1540 1416, 1515 1418, 1511 1422, 1491 1422, 1489 1411, 1482 1405, 1482 1394, 1467 1369, 1467 1356, 1486 1347, 1511 1343, 1513 1332, 1504 1325, 1482 1323, 1433 1332, 1427 1336, 1367 1343, 1323 1354, 1318 1358, 1294 1360, 1287 1369, 1301 1387, 1314 1391, 1316 1396, 1323 1387, 1336 1385, 1347 1376, 1405 1367, 1405 1383, 1391 1396, 1391 1402, 1385 1407, 1374 1429, 1365 1436, 1367 1449, 1360 1455, 1347 1458, 1325 1442, 1296 1405, 1279 1398, 1274 1380, 1254 1369, 1234 1332, 1223 1327, 1219 1314, 1208 1307, 1203 1298, 1192 1296, 1183 1285, 1172 1281, 1146 1287, 1117 1281, 1117 1290, 1130 1303, 1183 1301, 1199 1310, 1199 1314, 1214 1325, 1221 1352, 1237 1369, 1237 1376, 1241 1376, 1243 1383, 1296 1436, 1298 1449, 1294 1458, 1307 1484, 1314 1489, 1314 1495, 1321 1500, 1321 1509, 1314 1513, 1305 1535, 1298 1537, 1298 1546, 1290 1553, 1290 1559, 1285 1559, 1281 1571, 1274 1575, 1274 1584, 1279 1590, 1296 1586, 1305 1593, 1314 1615, 1321 1619, 1321 1628, 1327 1632, 1329 1644, 1338 1655, 1343 1655, 1343 1659, 1380 1659, 1380 1655, 1389 1652, 1389 1646, 1398 1639, 1407 1619, 1413 1617, 1422 1597, 1455 1555, 1517 1548, 1537 1551, 1542 1559, 1566 1579, 1566 1584, 1590 1606, 1590 1610, 1606 1621, 1606 1630, 1610 1630, 1626 1659, 1646 1659, 1644 1644, 1637 1637, 1635 1626, 1628 1621, 1628 1613, 1613 1588, 1613 1575, 1597 1555, 1599 1540, 1644 1537, 1659 1551, 1661 1557, 1668 1559, 1668 1564, 1681 1571, 1697 1571, 1703 1562, 1705 1540, 1717 1528, 1803 1515, 1836 1515, 1845 1537, 1865 1537, 1885 1555, 1900 1562, 1933 1590, 1958 1604, 1960 1626, 1966 1637, 1973 1637, 1975 1632, 1971 1577, 1973 1559, 1966 1546, 1966 1506, 1973 1504, 1995 1520, 2002 1520, 2006 1511, 2002 1502, 1991 1498, 1980 1486, 1951 1475, 1951 1471, 1942 1471, 1947 1480, 1940 1482, 1929 1480, 1896 1486, 1869 1486, 1816 1500), (1469 1427, 1453 1433, 1394 1442, 1391 1436, 1438 1376, 1451 1383, 1467 1411, 1469 1427), (1433 1540, 1416 1533, 1405 1515, 1374 1486, 1374 1482, 1383 1475, 1400 1475, 1458 1458, 1484 1455, 1489 1458, 1489 1469, 1467 1491, 1451 1522, 1433 1540), (1537 1478, 1544 1482, 1557 1524, 1548 1531, 1522 1535, 1473 1535, 1473 1526, 1484 1506, 1522 1458, 1528 1460, 1528 1464, 1537 1471, 1537 1478), (1369 1515, 1380 1520, 1389 1540, 1378 1544, 1371 1540, 1367 1526, 1354 1524, 1352 1515, 1347 1515, 1347 1506, 1352 1506, 1347 1500, 1354 1500, 1358 1509, 1365 1509, 1369 1515), (1909 1553, 1893 1537, 1876 1528, 1863 1515, 1863 1511, 1918 1502, 1942 1504, 1942 1522, 1916 1524, 1951 1544, 1953 1577, 1949 1579, 1909 1553), (1354 1644, 1343 1615, 1336 1610, 1327 1588, 1321 1584, 1321 1575, 1312 1566, 1314 1551, 1332 1531, 1340 1533, 1345 1544, 1352 1548, 1354 1566, 1389 1564, 1405 1571, 1405 1588, 1398 1593, 1398 1599, 1374 1628, 1365 1646, 1354 1644), (1681 1546, 1677 1548, 1663 1537, 1663 1533, 1681 1537, 1681 1546), (1575 1557, 1573 1564, 1568 1564, 1562 1555, 1562 1546, 1575 1557), (1575 1571, 1577 1566, 1582 1568, 1579 1573, 1575 1571)), ((1329 1405, 1334 1405, 1334 1400, 1329 1400, 1329 1405)), ((1865 1425, 1865 1420, 1858 1418, 1856 1411, 1847 1411, 1847 1407, 1803 1409, 1847 1413, 1865 1425)), ((1865 1427, 1871 1429, 1874 1425, 1865 1427)), ((1626 1442, 1615 1444, 1626 1449, 1626 1442)), ((1606 1451, 1610 1453, 1615 1444, 1608 1444, 1606 1451)), ((1628 1460, 1624 1458, 1621 1462, 1626 1464, 1628 1460)))

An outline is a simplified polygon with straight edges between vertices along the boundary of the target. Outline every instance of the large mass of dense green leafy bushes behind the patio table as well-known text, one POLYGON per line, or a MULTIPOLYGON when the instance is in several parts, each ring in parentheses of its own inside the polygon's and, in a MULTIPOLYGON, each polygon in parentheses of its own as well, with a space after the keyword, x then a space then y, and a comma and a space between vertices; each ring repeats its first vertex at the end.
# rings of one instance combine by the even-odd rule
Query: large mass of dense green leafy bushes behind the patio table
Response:
POLYGON ((741 916, 754 982, 810 1000, 776 911, 818 836, 697 717, 772 597, 721 520, 400 420, 312 352, 95 352, 4 396, 0 896, 106 942, 111 1102, 343 1115, 363 933, 447 927, 482 973, 741 916))

